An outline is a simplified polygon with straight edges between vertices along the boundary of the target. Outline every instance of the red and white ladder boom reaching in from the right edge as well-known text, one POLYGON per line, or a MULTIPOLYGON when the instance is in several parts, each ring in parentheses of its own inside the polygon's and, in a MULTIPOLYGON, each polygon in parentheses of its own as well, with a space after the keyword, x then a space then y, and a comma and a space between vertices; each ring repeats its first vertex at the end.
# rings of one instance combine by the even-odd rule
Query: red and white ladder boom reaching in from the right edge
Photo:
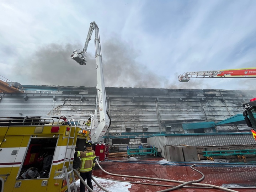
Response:
POLYGON ((178 75, 180 82, 188 82, 190 78, 256 78, 256 68, 194 71, 178 75))

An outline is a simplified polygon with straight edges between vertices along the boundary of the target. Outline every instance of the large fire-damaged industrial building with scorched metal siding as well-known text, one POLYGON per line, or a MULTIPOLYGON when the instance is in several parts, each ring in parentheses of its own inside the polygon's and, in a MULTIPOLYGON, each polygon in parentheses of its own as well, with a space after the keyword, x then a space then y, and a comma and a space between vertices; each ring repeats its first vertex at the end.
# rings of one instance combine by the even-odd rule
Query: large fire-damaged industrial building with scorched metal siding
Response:
MULTIPOLYGON (((65 115, 78 120, 87 119, 96 108, 95 87, 22 87, 25 91, 20 93, 0 93, 0 116, 65 115)), ((106 87, 111 126, 105 141, 125 150, 127 145, 147 143, 147 138, 152 136, 184 138, 185 135, 247 132, 242 133, 247 136, 241 139, 255 144, 253 138, 248 142, 251 132, 242 116, 242 103, 255 95, 255 90, 106 87)))

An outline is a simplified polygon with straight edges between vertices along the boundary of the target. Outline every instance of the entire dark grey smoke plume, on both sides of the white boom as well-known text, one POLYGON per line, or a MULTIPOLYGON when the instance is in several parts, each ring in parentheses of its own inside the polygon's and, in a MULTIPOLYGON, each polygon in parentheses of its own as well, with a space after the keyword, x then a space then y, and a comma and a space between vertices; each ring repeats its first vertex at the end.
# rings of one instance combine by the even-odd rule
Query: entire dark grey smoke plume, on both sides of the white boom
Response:
MULTIPOLYGON (((128 43, 112 38, 102 43, 102 63, 107 87, 145 87, 168 89, 202 89, 198 84, 181 83, 175 76, 174 83, 150 71, 144 63, 136 62, 138 51, 128 43)), ((29 59, 17 64, 22 79, 30 85, 60 85, 94 87, 97 84, 94 50, 88 50, 87 64, 80 66, 70 58, 73 50, 83 48, 80 44, 47 44, 39 47, 29 59), (32 59, 31 59, 32 58, 32 59), (20 66, 23 63, 23 66, 20 66)), ((159 64, 155 64, 156 67, 159 64)), ((22 83, 22 82, 21 82, 22 83)), ((24 83, 22 83, 24 84, 24 83)))

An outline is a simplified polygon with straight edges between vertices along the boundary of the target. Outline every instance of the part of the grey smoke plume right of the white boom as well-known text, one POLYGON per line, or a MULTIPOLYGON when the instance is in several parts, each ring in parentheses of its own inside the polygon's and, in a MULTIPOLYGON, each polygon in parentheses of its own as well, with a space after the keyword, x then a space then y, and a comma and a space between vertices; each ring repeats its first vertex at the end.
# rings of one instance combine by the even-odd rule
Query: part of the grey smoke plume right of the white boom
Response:
MULTIPOLYGON (((145 87, 145 88, 168 88, 168 89, 193 89, 193 86, 178 82, 178 74, 175 75, 175 83, 171 83, 165 76, 150 71, 146 63, 135 61, 138 53, 128 43, 117 39, 111 39, 102 45, 103 69, 106 86, 112 87, 145 87)), ((158 67, 159 63, 155 64, 158 67)), ((202 84, 201 84, 202 85, 202 84)))

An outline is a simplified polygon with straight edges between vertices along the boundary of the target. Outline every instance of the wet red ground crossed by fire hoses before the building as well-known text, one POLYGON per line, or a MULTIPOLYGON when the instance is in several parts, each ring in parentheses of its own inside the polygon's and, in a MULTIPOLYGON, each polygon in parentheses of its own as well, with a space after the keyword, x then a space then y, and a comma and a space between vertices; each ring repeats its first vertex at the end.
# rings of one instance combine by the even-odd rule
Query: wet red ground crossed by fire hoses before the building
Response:
MULTIPOLYGON (((200 171, 204 175, 204 179, 199 183, 217 185, 222 187, 232 187, 232 190, 239 192, 255 192, 256 191, 256 163, 255 159, 247 159, 247 162, 239 162, 238 159, 229 160, 214 160, 214 161, 200 161, 189 163, 171 163, 163 158, 155 158, 151 156, 137 156, 128 158, 109 158, 109 161, 100 162, 100 166, 107 172, 112 174, 121 174, 129 176, 140 177, 153 177, 164 180, 175 181, 194 181, 202 177, 202 175, 191 169, 191 165, 194 169, 200 171), (235 188, 234 188, 235 187, 235 188)), ((118 189, 112 187, 112 191, 127 191, 127 192, 156 192, 171 188, 171 186, 177 186, 181 183, 170 181, 157 181, 149 180, 145 178, 130 178, 128 176, 120 177, 106 174, 98 165, 93 170, 93 175, 100 178, 125 181, 127 183, 127 189, 118 189), (150 183, 151 185, 138 184, 150 183), (166 185, 166 186, 162 186, 166 185), (115 190, 116 189, 116 190, 115 190)), ((109 186, 110 181, 106 181, 106 185, 109 186), (106 184, 107 183, 107 184, 106 184)), ((114 184, 113 184, 114 185, 114 184)), ((223 191, 212 188, 199 188, 195 185, 189 185, 190 188, 180 188, 175 191, 186 192, 218 192, 223 191), (194 188, 196 187, 196 188, 194 188)), ((100 192, 102 190, 96 190, 100 192)))

